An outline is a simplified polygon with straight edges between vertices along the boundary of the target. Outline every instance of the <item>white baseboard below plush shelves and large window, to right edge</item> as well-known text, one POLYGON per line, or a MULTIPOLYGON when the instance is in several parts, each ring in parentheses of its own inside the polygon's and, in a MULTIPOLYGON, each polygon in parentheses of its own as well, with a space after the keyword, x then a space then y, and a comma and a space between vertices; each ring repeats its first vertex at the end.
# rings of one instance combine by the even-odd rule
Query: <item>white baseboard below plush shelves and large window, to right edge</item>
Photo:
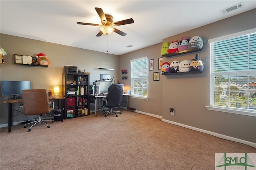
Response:
POLYGON ((247 144, 248 146, 252 146, 253 148, 256 148, 256 143, 253 143, 253 142, 248 142, 246 140, 242 140, 242 139, 238 139, 238 138, 234 138, 234 137, 231 137, 231 136, 226 136, 224 134, 219 134, 219 133, 215 133, 215 132, 210 132, 208 130, 204 130, 204 129, 200 129, 200 128, 196 128, 196 127, 191 127, 191 126, 188 126, 188 125, 184 125, 184 124, 181 124, 181 123, 177 123, 177 122, 173 122, 173 121, 168 121, 166 119, 162 119, 163 122, 166 122, 166 123, 170 123, 170 124, 173 124, 173 125, 178 125, 180 127, 185 127, 185 128, 189 128, 189 129, 192 129, 192 130, 196 130, 198 132, 203 132, 203 133, 206 133, 206 134, 210 134, 212 136, 216 136, 218 138, 222 138, 222 139, 226 139, 226 140, 231 140, 231 141, 234 141, 234 142, 239 142, 239 143, 242 143, 242 144, 247 144))

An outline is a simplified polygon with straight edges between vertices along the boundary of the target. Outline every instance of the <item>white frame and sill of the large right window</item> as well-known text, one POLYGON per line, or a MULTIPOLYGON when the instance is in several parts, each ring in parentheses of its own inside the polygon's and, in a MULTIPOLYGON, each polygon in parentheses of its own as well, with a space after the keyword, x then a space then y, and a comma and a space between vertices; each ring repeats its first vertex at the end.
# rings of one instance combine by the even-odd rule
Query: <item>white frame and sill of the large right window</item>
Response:
MULTIPOLYGON (((254 33, 256 33, 256 28, 238 32, 238 33, 234 33, 234 34, 230 34, 230 35, 226 35, 226 36, 222 36, 222 37, 218 37, 218 38, 210 39, 210 40, 208 40, 208 42, 210 43, 210 53, 212 53, 211 43, 226 40, 226 39, 236 38, 236 37, 240 37, 240 36, 244 36, 244 35, 248 35, 248 34, 254 34, 254 33)), ((210 59, 210 61, 212 62, 212 58, 210 59)), ((210 67, 211 67, 210 68, 210 103, 209 103, 209 106, 206 106, 206 108, 208 110, 212 110, 212 111, 220 111, 220 112, 234 113, 234 114, 256 117, 256 110, 254 110, 254 109, 244 109, 244 108, 225 107, 225 106, 214 105, 214 87, 215 86, 212 82, 214 82, 215 73, 213 72, 214 69, 212 70, 212 66, 214 66, 214 64, 210 63, 210 67)), ((243 72, 245 72, 245 71, 238 71, 237 73, 242 74, 243 72)), ((250 71, 247 71, 247 72, 250 72, 250 71)), ((226 75, 230 75, 230 72, 226 73, 226 75)))

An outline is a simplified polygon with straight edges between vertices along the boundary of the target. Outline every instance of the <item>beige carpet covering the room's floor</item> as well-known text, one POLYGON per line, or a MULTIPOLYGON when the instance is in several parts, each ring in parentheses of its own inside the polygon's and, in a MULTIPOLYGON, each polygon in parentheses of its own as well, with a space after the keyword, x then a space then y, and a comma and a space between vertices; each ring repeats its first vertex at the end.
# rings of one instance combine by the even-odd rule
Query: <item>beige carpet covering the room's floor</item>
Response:
POLYGON ((1 170, 214 170, 216 152, 256 152, 130 111, 27 129, 1 128, 1 170))

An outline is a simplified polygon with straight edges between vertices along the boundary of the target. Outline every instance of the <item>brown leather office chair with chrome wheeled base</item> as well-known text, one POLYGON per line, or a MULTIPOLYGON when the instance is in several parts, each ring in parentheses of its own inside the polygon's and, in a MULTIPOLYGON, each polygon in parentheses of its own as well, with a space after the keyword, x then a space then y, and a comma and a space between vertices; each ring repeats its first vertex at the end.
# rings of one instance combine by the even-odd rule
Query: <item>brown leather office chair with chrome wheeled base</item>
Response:
MULTIPOLYGON (((50 128, 50 125, 44 121, 52 121, 50 119, 42 119, 42 114, 47 114, 52 111, 52 107, 49 105, 48 93, 46 89, 32 89, 32 90, 23 90, 22 91, 22 104, 23 104, 23 112, 24 115, 38 115, 38 120, 33 121, 32 126, 28 128, 28 131, 31 131, 31 128, 37 123, 44 123, 47 125, 47 128, 50 128)), ((24 125, 24 128, 27 127, 28 124, 24 125)))

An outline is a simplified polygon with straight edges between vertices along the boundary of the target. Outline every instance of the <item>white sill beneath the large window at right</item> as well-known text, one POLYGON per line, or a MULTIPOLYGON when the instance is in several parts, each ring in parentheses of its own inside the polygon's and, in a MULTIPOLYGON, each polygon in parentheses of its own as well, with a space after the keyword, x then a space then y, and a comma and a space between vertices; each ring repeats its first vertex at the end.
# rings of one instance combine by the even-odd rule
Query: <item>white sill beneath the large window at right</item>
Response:
POLYGON ((256 111, 248 111, 247 109, 236 109, 236 108, 226 108, 226 107, 220 107, 220 106, 205 106, 208 110, 212 111, 220 111, 220 112, 226 112, 226 113, 234 113, 239 115, 246 115, 246 116, 252 116, 256 117, 256 111))

